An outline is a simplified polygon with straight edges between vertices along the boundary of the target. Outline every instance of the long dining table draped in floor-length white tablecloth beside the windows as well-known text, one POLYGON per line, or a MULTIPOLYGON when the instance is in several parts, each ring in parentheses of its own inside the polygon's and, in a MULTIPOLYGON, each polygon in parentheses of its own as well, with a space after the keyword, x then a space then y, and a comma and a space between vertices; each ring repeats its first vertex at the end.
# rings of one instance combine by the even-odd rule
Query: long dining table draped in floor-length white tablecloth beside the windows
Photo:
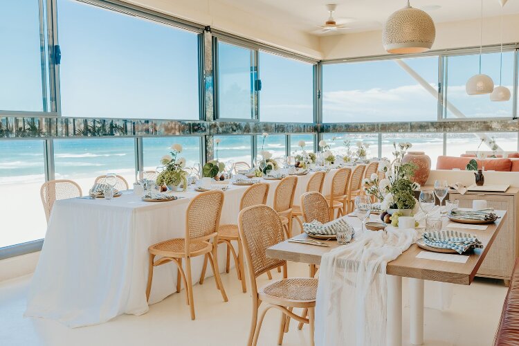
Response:
MULTIPOLYGON (((324 194, 329 194, 335 171, 330 170, 325 176, 324 194)), ((298 176, 295 204, 312 174, 298 176)), ((270 184, 267 204, 273 206, 279 181, 264 182, 270 184)), ((237 223, 239 201, 246 188, 228 185, 221 224, 237 223)), ((147 312, 147 248, 167 239, 185 237, 185 212, 197 194, 191 185, 186 192, 174 192, 179 199, 161 203, 142 201, 131 191, 111 200, 79 197, 56 201, 30 284, 25 316, 82 327, 106 322, 122 313, 147 312)), ((297 230, 297 223, 293 224, 297 230)), ((226 257, 224 245, 221 246, 222 271, 226 257)), ((203 257, 192 261, 192 284, 198 281, 202 264, 203 257)), ((212 272, 207 271, 206 275, 212 276, 212 272)), ((156 267, 149 304, 160 302, 175 291, 176 267, 156 267)))

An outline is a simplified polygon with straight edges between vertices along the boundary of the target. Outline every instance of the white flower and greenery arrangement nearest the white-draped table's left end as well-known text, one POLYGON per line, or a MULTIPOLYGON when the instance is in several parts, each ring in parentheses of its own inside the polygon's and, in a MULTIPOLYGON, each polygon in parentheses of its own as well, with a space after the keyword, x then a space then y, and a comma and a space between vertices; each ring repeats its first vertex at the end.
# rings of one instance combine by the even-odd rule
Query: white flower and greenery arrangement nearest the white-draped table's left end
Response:
POLYGON ((185 172, 185 158, 179 157, 182 152, 182 145, 174 144, 171 146, 170 155, 165 155, 161 159, 163 171, 158 174, 157 185, 166 185, 168 189, 185 191, 188 188, 188 172, 185 172))

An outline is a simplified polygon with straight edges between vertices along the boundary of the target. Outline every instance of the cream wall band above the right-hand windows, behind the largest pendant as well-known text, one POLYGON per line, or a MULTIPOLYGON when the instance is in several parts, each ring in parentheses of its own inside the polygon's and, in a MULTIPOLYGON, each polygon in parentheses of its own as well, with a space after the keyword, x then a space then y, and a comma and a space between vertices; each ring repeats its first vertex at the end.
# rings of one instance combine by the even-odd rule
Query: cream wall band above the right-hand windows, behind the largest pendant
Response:
MULTIPOLYGON (((519 42, 519 15, 503 17, 503 42, 519 42)), ((483 21, 483 45, 500 43, 500 17, 483 21)), ((480 19, 436 24, 432 50, 480 45, 480 19)), ((382 31, 325 36, 320 39, 323 59, 342 59, 388 54, 382 46, 382 31)))

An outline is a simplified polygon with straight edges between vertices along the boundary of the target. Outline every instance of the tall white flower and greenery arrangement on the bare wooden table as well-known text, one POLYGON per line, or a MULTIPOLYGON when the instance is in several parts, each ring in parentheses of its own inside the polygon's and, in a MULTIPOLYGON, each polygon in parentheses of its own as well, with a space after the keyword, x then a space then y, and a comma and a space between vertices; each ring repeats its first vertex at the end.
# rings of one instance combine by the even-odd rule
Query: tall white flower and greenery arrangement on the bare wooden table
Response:
POLYGON ((394 161, 379 163, 379 171, 384 172, 385 178, 379 181, 379 175, 374 173, 363 181, 363 189, 369 196, 374 196, 381 201, 381 209, 392 215, 401 212, 404 216, 411 215, 417 204, 415 190, 420 188, 418 183, 413 183, 411 178, 417 170, 415 163, 402 163, 403 156, 411 143, 393 143, 394 161))

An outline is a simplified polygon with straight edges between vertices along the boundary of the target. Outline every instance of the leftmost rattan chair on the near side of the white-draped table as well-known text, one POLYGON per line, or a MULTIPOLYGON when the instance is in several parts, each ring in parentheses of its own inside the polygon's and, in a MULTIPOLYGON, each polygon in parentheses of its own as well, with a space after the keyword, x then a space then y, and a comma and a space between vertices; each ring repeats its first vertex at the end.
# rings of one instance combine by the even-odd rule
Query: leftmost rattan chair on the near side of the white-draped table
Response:
POLYGON ((169 239, 149 246, 149 267, 146 288, 146 299, 152 289, 153 268, 167 262, 175 262, 178 269, 176 276, 176 291, 180 292, 181 280, 186 287, 187 302, 190 306, 191 319, 194 320, 194 300, 191 279, 191 259, 196 256, 205 256, 210 260, 212 272, 215 274, 217 289, 220 290, 224 302, 227 295, 224 285, 221 284, 218 270, 217 235, 220 222, 221 207, 224 205, 224 192, 202 192, 194 197, 185 212, 185 238, 169 239), (213 242, 210 240, 213 239, 213 242), (155 256, 161 256, 154 261, 155 256), (182 260, 185 260, 185 272, 182 269, 182 260))

